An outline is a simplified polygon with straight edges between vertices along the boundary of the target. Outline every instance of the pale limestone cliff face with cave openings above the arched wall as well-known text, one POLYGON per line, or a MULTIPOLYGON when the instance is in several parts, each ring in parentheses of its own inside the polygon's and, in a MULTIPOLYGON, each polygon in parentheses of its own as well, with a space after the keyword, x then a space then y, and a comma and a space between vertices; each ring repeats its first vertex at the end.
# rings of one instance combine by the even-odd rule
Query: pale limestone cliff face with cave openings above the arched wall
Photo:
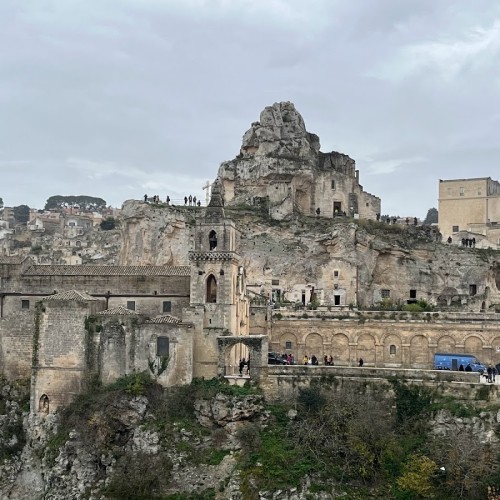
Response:
POLYGON ((437 242, 430 228, 389 231, 382 224, 318 219, 277 226, 251 217, 239 225, 247 282, 256 292, 280 289, 296 302, 306 290, 308 302, 314 287, 325 305, 338 296, 337 305, 365 307, 380 302, 382 290, 403 304, 425 299, 479 311, 500 303, 497 273, 483 252, 437 242))

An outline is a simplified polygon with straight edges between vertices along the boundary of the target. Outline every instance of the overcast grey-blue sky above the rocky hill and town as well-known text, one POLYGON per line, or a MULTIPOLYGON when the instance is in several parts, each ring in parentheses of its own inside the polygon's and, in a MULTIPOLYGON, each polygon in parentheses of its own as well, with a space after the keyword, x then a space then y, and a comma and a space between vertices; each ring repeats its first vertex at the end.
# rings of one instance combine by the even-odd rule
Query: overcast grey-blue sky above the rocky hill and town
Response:
POLYGON ((0 0, 0 197, 202 195, 292 101, 382 213, 500 180, 500 2, 0 0))

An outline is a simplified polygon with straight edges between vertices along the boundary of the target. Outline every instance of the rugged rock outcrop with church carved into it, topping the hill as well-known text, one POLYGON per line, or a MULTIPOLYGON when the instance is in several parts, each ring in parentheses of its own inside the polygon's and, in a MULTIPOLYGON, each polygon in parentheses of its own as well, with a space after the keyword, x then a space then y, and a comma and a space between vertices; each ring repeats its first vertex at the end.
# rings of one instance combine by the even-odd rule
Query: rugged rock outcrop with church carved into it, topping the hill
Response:
POLYGON ((218 177, 227 204, 257 206, 278 220, 297 213, 364 219, 380 214, 380 198, 363 190, 355 161, 322 153, 319 137, 307 132, 290 102, 262 111, 243 136, 240 154, 221 164, 218 177))

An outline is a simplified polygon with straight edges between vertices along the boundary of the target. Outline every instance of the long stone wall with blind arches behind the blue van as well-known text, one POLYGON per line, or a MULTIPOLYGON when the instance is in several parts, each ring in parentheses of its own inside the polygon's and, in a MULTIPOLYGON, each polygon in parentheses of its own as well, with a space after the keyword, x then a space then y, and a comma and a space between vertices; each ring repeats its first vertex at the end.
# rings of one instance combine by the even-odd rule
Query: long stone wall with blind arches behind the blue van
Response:
POLYGON ((483 320, 283 318, 272 322, 269 346, 290 352, 299 363, 305 355, 315 355, 320 362, 331 355, 339 366, 357 366, 362 358, 365 366, 430 369, 436 352, 473 354, 482 363, 500 363, 498 315, 484 315, 483 320))

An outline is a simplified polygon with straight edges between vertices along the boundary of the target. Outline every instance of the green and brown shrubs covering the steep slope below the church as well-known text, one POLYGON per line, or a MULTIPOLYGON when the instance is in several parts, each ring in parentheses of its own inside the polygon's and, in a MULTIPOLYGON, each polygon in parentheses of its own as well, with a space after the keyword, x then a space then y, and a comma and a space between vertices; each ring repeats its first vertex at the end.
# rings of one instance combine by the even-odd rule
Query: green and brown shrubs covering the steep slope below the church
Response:
MULTIPOLYGON (((346 492, 352 499, 486 498, 488 486, 500 484, 498 450, 467 432, 435 436, 429 426, 438 409, 464 417, 472 416, 473 408, 450 398, 439 401, 430 389, 399 381, 393 382, 393 389, 394 397, 376 386, 355 391, 325 379, 300 389, 296 399, 265 405, 270 423, 247 421, 236 431, 241 448, 234 456, 243 497, 301 489, 307 478, 310 495, 324 491, 346 492)), ((172 495, 169 450, 194 464, 220 463, 228 453, 227 429, 201 426, 194 411, 196 400, 220 393, 245 396, 258 390, 215 379, 164 390, 146 374, 123 377, 106 388, 97 385, 62 412, 49 448, 55 457, 75 429, 87 436, 89 451, 97 456, 111 452, 116 464, 103 491, 106 498, 214 498, 212 490, 172 495), (159 434, 160 451, 124 453, 133 430, 117 418, 117 411, 124 401, 142 396, 147 398, 148 417, 141 425, 159 434), (191 438, 179 439, 180 429, 191 438)), ((219 491, 225 487, 221 483, 219 491)))

